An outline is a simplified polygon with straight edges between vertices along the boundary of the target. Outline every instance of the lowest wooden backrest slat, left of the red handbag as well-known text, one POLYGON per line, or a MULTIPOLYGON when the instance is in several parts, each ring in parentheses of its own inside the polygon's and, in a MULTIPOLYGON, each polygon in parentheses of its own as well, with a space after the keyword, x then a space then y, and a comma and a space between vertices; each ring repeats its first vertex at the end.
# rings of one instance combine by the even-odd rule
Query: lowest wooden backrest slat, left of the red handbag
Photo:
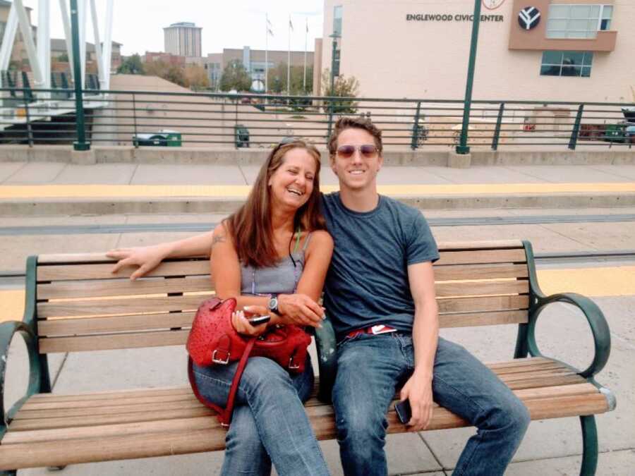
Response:
POLYGON ((47 337, 40 339, 40 352, 82 352, 85 350, 114 350, 160 346, 183 346, 189 330, 104 334, 78 337, 47 337))

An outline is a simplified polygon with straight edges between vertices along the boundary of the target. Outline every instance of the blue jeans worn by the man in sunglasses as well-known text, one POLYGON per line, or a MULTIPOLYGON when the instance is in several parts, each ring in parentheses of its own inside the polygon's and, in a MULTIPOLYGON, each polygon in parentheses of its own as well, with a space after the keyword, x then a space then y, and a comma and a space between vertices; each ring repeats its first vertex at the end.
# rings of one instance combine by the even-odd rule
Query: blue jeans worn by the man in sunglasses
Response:
MULTIPOLYGON (((387 474, 386 411, 413 370, 409 334, 362 334, 339 343, 333 404, 344 474, 387 474)), ((529 425, 524 403, 467 350, 443 338, 435 356, 433 398, 478 429, 453 474, 502 475, 529 425)))

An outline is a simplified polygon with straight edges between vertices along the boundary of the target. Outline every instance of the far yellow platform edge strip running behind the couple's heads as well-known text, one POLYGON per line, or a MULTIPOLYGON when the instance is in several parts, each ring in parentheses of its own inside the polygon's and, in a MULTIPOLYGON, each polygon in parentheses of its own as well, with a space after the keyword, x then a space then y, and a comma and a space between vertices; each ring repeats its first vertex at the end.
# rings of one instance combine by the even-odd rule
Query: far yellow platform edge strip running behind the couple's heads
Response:
MULTIPOLYGON (((0 200, 35 198, 246 197, 250 185, 2 185, 0 200)), ((325 193, 337 185, 322 185, 325 193)), ((379 185, 384 195, 500 195, 510 193, 635 193, 635 182, 379 185)))

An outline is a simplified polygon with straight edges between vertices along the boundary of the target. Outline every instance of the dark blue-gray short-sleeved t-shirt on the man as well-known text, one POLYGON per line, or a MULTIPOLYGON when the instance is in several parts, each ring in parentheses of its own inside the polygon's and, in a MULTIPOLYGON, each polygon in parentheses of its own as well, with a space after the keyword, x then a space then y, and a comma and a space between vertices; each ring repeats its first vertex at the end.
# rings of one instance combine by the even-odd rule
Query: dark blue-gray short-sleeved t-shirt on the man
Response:
POLYGON ((374 210, 353 212, 339 193, 322 195, 322 211, 335 243, 324 305, 338 340, 375 324, 411 332, 408 266, 439 259, 421 212, 382 195, 374 210))

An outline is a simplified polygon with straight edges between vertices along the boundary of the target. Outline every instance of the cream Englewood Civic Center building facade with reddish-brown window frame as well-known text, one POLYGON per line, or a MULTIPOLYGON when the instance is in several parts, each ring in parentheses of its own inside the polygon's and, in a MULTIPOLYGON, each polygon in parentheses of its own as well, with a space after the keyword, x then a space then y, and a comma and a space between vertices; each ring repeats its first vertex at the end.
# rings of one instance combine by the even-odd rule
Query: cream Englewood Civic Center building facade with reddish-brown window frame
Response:
MULTIPOLYGON (((315 75, 335 34, 361 96, 462 99, 473 5, 326 0, 315 75)), ((633 0, 483 0, 473 98, 635 102, 634 22, 633 0)))

